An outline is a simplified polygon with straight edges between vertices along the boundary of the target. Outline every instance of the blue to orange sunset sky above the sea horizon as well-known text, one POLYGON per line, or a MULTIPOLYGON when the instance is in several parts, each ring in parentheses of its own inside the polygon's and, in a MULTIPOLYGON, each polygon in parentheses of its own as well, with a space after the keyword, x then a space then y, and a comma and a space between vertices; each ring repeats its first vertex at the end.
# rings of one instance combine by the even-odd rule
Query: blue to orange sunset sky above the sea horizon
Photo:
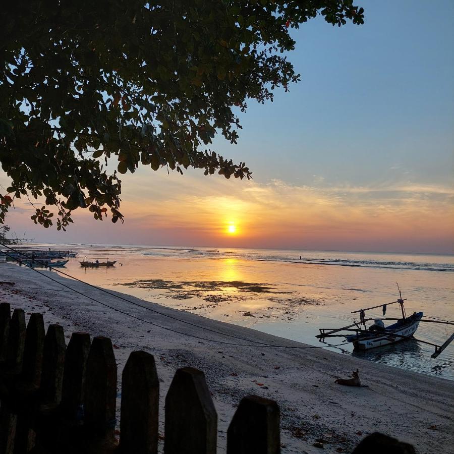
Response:
POLYGON ((454 2, 356 3, 363 26, 293 30, 301 82, 249 101, 238 145, 215 139, 252 181, 141 168, 123 225, 76 210, 45 230, 26 204, 7 222, 36 241, 454 253, 454 2))

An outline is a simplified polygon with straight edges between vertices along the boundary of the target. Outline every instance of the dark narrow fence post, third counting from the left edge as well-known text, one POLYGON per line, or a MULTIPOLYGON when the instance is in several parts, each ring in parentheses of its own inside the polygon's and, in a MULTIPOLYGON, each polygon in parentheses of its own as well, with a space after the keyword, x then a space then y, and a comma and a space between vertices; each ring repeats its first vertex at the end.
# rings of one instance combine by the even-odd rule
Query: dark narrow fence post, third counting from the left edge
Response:
POLYGON ((39 387, 41 384, 44 335, 44 320, 42 314, 34 312, 30 315, 25 331, 22 376, 26 383, 36 387, 39 387))

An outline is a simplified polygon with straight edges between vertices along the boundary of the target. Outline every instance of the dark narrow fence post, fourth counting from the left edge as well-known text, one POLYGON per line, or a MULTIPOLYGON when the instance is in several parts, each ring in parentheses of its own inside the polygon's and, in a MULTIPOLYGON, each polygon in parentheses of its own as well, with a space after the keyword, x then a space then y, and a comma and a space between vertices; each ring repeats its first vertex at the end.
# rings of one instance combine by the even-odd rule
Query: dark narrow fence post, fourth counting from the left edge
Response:
POLYGON ((49 325, 44 338, 41 396, 46 404, 60 404, 62 400, 63 370, 65 367, 65 333, 60 325, 49 325))

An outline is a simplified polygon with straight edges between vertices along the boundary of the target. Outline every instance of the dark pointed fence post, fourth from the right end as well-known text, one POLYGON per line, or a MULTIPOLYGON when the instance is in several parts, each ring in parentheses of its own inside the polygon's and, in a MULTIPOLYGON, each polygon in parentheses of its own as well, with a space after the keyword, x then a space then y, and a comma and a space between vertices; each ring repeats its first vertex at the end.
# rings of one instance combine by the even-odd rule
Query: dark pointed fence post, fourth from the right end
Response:
POLYGON ((153 355, 129 355, 122 375, 120 450, 157 454, 159 379, 153 355))

